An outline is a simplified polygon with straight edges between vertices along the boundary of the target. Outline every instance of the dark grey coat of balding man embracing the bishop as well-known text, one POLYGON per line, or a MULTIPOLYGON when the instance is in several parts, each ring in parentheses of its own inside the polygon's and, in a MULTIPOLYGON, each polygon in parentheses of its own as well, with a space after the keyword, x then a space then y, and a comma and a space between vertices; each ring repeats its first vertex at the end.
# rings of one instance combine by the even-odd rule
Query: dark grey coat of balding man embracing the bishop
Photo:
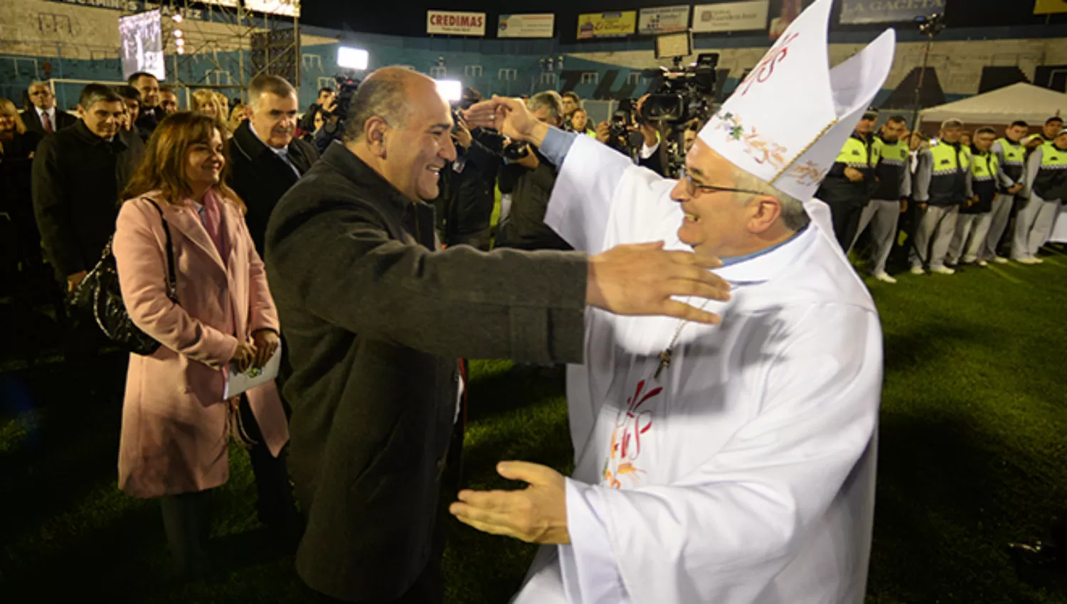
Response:
POLYGON ((431 207, 332 145, 278 201, 266 264, 292 364, 297 571, 333 598, 398 598, 430 556, 458 358, 580 362, 587 261, 434 250, 431 207))

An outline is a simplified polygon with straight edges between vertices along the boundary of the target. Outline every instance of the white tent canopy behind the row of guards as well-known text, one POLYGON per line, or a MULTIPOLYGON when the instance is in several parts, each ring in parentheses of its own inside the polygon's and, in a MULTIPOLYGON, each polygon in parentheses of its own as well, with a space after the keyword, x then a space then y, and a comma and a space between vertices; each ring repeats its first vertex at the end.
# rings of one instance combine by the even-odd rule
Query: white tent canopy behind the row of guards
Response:
POLYGON ((984 95, 931 107, 921 114, 921 121, 958 118, 964 124, 1008 125, 1016 119, 1031 126, 1045 124, 1053 115, 1067 115, 1067 95, 1020 82, 984 95))

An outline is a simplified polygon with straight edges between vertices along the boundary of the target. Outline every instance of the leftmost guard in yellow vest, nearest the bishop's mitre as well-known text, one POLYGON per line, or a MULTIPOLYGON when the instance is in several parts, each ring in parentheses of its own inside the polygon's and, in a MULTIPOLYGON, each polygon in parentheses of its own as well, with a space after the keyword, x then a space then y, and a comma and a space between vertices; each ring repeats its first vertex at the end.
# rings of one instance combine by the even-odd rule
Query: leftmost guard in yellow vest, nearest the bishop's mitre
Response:
POLYGON ((863 208, 878 184, 875 177, 878 152, 872 136, 877 121, 876 111, 869 110, 863 114, 856 131, 841 149, 838 161, 815 192, 815 197, 830 206, 833 234, 846 251, 856 239, 863 208))

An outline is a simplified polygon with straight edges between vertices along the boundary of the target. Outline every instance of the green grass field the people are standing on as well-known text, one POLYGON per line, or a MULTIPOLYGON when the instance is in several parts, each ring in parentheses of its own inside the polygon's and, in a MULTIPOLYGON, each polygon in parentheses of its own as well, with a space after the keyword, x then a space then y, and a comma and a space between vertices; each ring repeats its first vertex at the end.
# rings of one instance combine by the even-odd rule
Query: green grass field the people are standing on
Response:
MULTIPOLYGON (((887 366, 869 602, 1067 602, 1067 582, 1005 549, 1067 509, 1067 256, 871 288, 887 366)), ((122 375, 60 366, 0 374, 0 602, 308 600, 258 532, 238 450, 216 496, 214 572, 166 583, 158 504, 115 488, 122 375)), ((500 459, 569 471, 562 392, 561 372, 475 362, 468 485, 504 486, 500 459)), ((532 553, 452 522, 448 601, 506 602, 532 553)))

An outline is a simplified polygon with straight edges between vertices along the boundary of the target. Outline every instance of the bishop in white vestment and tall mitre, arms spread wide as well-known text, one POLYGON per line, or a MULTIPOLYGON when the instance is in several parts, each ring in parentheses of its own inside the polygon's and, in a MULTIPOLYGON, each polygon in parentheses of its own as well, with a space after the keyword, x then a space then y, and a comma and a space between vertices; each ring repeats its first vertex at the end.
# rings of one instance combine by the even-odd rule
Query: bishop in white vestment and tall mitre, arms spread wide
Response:
POLYGON ((811 195, 883 82, 894 36, 821 69, 831 4, 818 0, 770 49, 680 181, 585 136, 529 135, 521 105, 498 101, 508 117, 496 124, 559 165, 546 222, 575 249, 663 241, 720 256, 732 285, 704 307, 719 325, 587 312, 586 362, 568 369, 575 472, 557 487, 561 530, 527 538, 498 520, 545 515, 551 497, 507 497, 551 493, 550 469, 535 479, 501 464, 531 487, 460 494, 460 520, 550 543, 515 604, 863 601, 881 329, 811 195), (782 91, 809 88, 796 111, 781 104, 782 91))

